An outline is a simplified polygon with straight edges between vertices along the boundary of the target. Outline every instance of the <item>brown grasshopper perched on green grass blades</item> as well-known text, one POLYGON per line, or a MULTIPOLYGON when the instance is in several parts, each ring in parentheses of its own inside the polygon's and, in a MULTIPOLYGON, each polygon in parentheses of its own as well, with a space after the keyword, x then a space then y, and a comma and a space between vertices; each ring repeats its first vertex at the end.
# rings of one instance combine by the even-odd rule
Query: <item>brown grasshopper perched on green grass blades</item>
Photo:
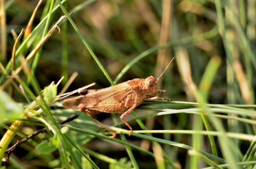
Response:
MULTIPOLYGON (((167 65, 165 70, 167 70, 173 59, 167 65)), ((96 120, 92 115, 98 113, 123 113, 125 111, 120 118, 130 129, 130 136, 132 133, 132 127, 130 127, 124 118, 133 109, 145 100, 171 100, 163 98, 166 93, 165 90, 158 90, 158 81, 165 70, 163 70, 157 79, 153 76, 149 76, 146 79, 132 79, 103 89, 80 90, 78 93, 83 95, 71 99, 65 99, 62 103, 63 107, 80 109, 81 112, 89 116, 101 127, 111 132, 111 138, 114 138, 116 133, 96 120), (156 96, 157 93, 163 93, 162 97, 156 96)))

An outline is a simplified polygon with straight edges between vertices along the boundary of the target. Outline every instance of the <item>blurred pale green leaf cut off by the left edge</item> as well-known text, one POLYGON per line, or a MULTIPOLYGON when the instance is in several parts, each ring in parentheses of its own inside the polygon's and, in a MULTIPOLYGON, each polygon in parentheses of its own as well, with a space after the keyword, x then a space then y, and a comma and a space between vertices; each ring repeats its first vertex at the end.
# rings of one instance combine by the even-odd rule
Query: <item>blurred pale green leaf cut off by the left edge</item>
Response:
POLYGON ((18 105, 7 93, 0 91, 0 123, 12 120, 24 113, 23 107, 18 105))

